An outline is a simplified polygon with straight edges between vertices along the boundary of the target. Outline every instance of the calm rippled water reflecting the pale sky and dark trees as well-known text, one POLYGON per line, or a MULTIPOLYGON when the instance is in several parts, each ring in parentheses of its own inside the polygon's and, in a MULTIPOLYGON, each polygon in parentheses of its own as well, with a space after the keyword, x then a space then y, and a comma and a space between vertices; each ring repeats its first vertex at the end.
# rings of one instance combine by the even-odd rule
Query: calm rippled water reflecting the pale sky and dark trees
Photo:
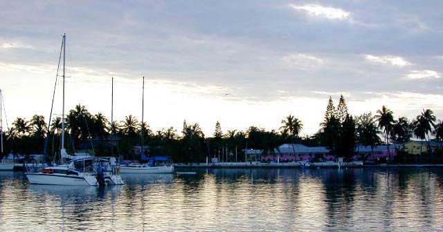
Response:
POLYGON ((124 186, 98 189, 30 185, 23 173, 0 172, 0 231, 443 231, 443 168, 123 178, 124 186))

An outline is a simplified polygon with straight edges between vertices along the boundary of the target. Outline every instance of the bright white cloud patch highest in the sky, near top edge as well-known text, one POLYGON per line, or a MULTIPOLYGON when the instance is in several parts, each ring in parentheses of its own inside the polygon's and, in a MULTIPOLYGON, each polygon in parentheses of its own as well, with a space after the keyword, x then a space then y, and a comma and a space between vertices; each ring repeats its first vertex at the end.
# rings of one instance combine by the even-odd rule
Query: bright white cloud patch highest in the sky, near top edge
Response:
POLYGON ((314 4, 305 5, 305 6, 289 4, 289 6, 293 9, 303 10, 308 12, 309 14, 313 14, 318 17, 324 17, 327 19, 346 19, 350 15, 350 12, 347 12, 340 8, 331 8, 331 7, 314 5, 314 4))

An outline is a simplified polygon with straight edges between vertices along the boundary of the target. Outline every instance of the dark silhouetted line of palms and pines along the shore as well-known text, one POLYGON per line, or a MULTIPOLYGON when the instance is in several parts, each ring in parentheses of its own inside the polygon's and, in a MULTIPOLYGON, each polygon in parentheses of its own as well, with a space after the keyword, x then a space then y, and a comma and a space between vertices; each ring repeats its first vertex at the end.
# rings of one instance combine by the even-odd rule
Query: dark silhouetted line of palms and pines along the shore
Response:
MULTIPOLYGON (((66 115, 64 144, 69 153, 90 149, 90 153, 97 156, 112 153, 123 156, 125 160, 137 160, 140 157, 134 154, 133 146, 140 146, 143 133, 143 144, 150 147, 151 156, 170 155, 176 162, 204 162, 206 157, 219 157, 221 154, 223 161, 232 162, 237 154, 237 161, 244 162, 243 150, 246 147, 262 150, 262 155, 278 155, 281 144, 325 146, 333 155, 350 159, 357 145, 373 149, 386 144, 389 149, 390 143, 401 144, 415 137, 430 146, 431 136, 442 142, 443 124, 437 121, 432 110, 424 109, 411 120, 406 117, 394 119, 393 115, 392 110, 382 106, 375 115, 363 113, 352 116, 347 113, 347 104, 341 95, 336 107, 329 97, 324 121, 320 123, 320 130, 312 136, 300 137, 302 121, 294 115, 281 120, 279 131, 249 126, 246 131, 232 130, 224 134, 221 125, 216 122, 215 132, 208 136, 201 131, 199 124, 188 124, 186 120, 180 132, 172 126, 152 131, 150 126, 145 122, 142 124, 133 115, 120 122, 109 122, 102 113, 93 115, 85 106, 78 104, 66 115), (110 135, 118 140, 116 146, 109 144, 110 135)), ((46 150, 46 155, 51 158, 60 151, 61 132, 61 117, 53 118, 49 125, 42 115, 34 115, 29 121, 18 117, 5 131, 3 150, 24 155, 46 150)))

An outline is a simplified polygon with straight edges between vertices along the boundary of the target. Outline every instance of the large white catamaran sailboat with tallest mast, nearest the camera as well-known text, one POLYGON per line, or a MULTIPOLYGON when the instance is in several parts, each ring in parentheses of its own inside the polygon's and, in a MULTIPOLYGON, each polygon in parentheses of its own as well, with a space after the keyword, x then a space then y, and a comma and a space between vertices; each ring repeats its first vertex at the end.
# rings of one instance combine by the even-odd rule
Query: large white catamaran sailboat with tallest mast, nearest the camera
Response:
POLYGON ((66 164, 41 168, 39 171, 28 169, 25 173, 31 184, 56 185, 117 185, 123 184, 120 175, 111 171, 109 159, 105 157, 76 157, 68 155, 64 148, 64 79, 66 34, 62 39, 63 50, 63 106, 62 106, 62 144, 60 156, 63 160, 73 159, 66 164))

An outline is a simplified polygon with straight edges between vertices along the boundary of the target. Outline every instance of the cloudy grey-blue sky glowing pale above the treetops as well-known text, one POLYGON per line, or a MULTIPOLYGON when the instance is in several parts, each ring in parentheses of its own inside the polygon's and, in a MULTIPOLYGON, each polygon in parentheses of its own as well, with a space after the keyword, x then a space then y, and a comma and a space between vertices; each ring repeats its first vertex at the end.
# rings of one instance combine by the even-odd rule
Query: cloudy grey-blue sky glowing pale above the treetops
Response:
POLYGON ((145 77, 144 122, 179 135, 183 120, 211 137, 217 121, 224 133, 278 131, 288 115, 313 135, 340 95, 351 115, 385 105, 395 118, 443 119, 443 1, 0 3, 9 126, 48 119, 64 33, 66 112, 81 104, 110 120, 114 77, 114 121, 141 121, 145 77))

